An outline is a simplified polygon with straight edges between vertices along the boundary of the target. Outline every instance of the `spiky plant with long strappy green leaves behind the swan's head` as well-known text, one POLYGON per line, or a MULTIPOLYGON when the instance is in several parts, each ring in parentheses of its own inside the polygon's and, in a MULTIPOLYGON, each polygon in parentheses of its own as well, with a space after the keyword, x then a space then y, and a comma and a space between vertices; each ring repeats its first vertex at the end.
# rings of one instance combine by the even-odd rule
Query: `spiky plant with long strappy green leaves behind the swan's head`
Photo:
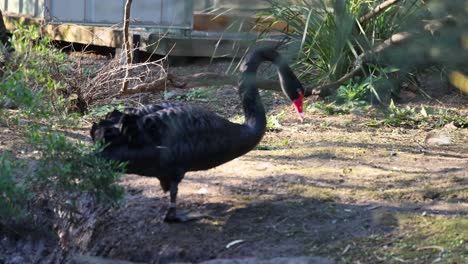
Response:
MULTIPOLYGON (((338 80, 354 67, 360 54, 426 14, 418 0, 401 1, 361 22, 360 18, 380 1, 270 2, 271 8, 261 15, 272 17, 272 26, 278 22, 288 24, 287 44, 298 47, 296 68, 306 82, 318 84, 338 80)), ((377 76, 372 67, 362 70, 367 76, 377 76)))

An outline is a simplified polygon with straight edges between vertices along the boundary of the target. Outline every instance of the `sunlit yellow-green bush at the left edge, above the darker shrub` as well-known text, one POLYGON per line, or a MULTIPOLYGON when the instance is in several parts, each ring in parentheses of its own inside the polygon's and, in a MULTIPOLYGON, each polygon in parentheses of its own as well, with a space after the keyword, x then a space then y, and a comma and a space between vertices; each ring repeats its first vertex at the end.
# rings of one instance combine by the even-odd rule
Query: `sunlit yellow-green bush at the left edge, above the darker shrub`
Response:
POLYGON ((65 55, 35 25, 16 24, 11 42, 15 52, 5 62, 0 101, 11 100, 33 115, 66 112, 69 100, 62 94, 61 74, 67 69, 65 55))

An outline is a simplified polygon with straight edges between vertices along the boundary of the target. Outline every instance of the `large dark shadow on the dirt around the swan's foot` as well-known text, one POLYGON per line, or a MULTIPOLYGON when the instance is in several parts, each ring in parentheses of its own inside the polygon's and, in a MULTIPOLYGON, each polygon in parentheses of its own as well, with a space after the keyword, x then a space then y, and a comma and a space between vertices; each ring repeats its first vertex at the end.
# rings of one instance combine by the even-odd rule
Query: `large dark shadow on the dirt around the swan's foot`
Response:
POLYGON ((100 216, 84 252, 146 263, 215 258, 314 255, 314 249, 398 228, 404 207, 349 205, 277 195, 238 204, 184 197, 181 208, 207 216, 199 222, 162 221, 165 197, 130 194, 120 209, 100 216), (227 248, 235 240, 239 244, 227 248))

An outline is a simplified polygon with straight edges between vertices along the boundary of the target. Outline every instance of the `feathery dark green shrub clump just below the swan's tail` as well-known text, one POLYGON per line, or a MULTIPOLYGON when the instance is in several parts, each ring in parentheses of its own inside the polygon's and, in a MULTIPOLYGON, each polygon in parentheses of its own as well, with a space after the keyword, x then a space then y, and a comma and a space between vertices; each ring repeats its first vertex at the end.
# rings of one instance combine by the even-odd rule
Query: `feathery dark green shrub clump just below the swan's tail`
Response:
POLYGON ((28 186, 62 204, 71 205, 90 195, 97 202, 115 202, 123 195, 117 185, 124 164, 99 158, 96 147, 72 142, 59 132, 29 131, 29 141, 38 151, 39 160, 28 177, 28 186))

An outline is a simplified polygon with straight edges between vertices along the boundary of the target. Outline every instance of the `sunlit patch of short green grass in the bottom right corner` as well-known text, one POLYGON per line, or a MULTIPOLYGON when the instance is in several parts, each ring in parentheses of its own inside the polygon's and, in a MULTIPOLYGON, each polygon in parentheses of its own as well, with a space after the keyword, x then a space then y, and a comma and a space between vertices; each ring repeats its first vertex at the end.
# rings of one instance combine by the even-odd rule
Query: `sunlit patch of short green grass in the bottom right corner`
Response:
POLYGON ((340 263, 467 263, 468 219, 410 213, 393 216, 397 227, 389 233, 320 245, 313 254, 332 255, 340 263))

